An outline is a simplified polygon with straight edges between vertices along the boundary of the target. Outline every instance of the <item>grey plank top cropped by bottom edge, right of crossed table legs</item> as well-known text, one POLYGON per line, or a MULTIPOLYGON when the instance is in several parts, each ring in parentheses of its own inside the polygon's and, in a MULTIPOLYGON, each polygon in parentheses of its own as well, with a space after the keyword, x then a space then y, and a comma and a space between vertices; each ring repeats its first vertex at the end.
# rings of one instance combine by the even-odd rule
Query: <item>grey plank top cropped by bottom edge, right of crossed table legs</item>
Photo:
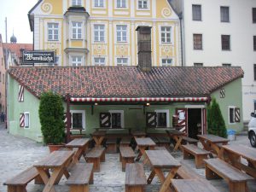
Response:
POLYGON ((200 179, 172 179, 176 192, 219 192, 212 184, 200 179))

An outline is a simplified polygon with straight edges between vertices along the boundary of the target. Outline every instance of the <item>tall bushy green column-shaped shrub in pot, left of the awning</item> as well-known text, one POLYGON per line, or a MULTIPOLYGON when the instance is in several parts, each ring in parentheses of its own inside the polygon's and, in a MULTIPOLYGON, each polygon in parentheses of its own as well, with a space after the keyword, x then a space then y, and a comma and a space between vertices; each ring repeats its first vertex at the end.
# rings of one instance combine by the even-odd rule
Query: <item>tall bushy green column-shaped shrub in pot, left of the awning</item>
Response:
POLYGON ((64 108, 61 96, 52 92, 40 98, 39 119, 45 144, 61 144, 65 137, 64 108))

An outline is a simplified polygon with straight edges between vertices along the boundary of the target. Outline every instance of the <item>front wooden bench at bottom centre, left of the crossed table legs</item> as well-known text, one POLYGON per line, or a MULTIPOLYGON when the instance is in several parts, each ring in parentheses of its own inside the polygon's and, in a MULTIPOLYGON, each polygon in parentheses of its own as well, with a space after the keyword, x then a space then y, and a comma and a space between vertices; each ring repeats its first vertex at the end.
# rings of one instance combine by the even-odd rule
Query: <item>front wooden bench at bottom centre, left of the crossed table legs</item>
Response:
POLYGON ((127 163, 125 166, 125 192, 143 192, 146 184, 143 164, 127 163))

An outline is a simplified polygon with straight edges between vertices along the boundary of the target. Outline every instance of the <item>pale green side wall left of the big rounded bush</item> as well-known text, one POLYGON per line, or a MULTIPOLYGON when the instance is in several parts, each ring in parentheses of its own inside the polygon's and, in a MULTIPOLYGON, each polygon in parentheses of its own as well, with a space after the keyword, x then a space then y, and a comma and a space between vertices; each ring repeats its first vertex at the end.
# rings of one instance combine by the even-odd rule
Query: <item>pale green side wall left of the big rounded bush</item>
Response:
POLYGON ((18 102, 19 84, 9 79, 9 133, 42 142, 41 125, 38 117, 39 100, 24 89, 24 102, 18 102), (29 112, 29 128, 20 127, 20 113, 29 112))

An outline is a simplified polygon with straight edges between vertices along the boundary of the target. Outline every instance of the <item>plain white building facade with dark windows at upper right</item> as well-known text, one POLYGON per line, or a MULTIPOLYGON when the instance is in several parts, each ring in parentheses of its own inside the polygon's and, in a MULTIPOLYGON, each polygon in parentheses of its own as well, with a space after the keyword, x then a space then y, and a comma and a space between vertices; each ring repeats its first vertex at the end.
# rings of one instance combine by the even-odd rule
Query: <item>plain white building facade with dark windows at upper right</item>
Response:
POLYGON ((243 119, 256 110, 256 1, 171 0, 183 26, 183 66, 241 66, 243 119))

